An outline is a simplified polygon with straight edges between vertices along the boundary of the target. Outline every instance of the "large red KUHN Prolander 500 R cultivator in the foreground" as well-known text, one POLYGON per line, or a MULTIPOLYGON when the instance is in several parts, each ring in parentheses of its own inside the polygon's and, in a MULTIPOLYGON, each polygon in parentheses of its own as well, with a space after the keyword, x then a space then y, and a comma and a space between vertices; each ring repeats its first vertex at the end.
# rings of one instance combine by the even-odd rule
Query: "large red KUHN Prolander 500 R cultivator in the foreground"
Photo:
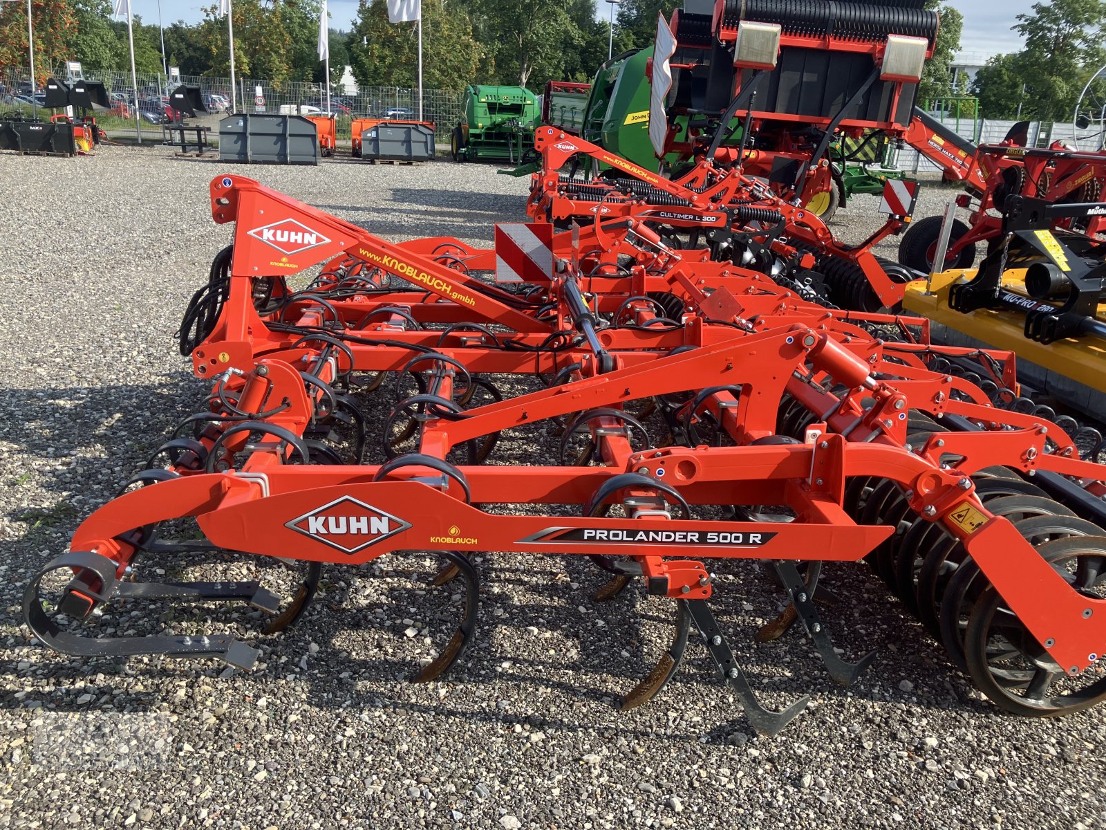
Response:
POLYGON ((778 284, 774 257, 814 256, 774 236, 776 216, 720 205, 751 258, 713 261, 672 243, 677 219, 651 227, 629 201, 604 194, 588 204, 609 214, 560 232, 500 226, 495 248, 476 249, 387 242, 216 178, 212 216, 234 224, 233 245, 180 329, 210 394, 31 581, 31 630, 69 654, 249 667, 240 633, 182 631, 192 620, 171 614, 150 635, 131 629, 159 600, 247 603, 279 631, 324 563, 417 551, 436 564, 411 600, 452 598, 416 667, 430 681, 483 622, 473 554, 583 557, 606 580, 591 601, 635 591, 667 609, 625 708, 660 693, 695 631, 772 734, 806 699, 758 702, 711 610, 716 573, 762 563, 790 604, 761 639, 797 621, 851 683, 873 655, 847 662, 816 602, 824 563, 866 559, 1001 708, 1062 715, 1106 695, 1106 467, 1079 454, 1100 436, 1020 405, 1012 353, 935 346, 924 320, 778 284), (382 395, 374 423, 364 402, 382 395), (519 464, 512 440, 535 427, 556 452, 519 464), (302 584, 139 581, 169 556, 300 567, 302 584))

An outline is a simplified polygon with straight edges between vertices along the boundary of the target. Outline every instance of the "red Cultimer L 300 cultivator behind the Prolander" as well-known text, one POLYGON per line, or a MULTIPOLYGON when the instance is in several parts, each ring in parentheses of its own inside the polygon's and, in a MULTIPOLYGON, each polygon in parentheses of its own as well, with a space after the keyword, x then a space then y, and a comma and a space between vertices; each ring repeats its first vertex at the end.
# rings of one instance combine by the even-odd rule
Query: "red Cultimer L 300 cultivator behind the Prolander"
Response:
POLYGON ((634 218, 670 246, 707 248, 711 259, 763 273, 806 299, 864 311, 902 301, 907 273, 873 248, 905 227, 909 208, 860 245, 847 246, 816 215, 784 201, 740 166, 718 166, 713 148, 672 180, 553 127, 538 129, 534 147, 542 169, 533 175, 526 212, 535 221, 634 218), (609 165, 612 174, 577 178, 562 172, 595 163, 609 165))

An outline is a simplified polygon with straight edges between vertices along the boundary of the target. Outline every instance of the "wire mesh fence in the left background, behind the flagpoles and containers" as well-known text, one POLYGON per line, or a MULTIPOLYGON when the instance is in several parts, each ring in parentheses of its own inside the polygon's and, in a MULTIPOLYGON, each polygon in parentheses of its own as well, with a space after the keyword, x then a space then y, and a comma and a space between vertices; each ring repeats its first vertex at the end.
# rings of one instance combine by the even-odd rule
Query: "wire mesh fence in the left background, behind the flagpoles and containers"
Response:
MULTIPOLYGON (((107 89, 109 95, 117 96, 119 101, 126 101, 133 105, 135 93, 134 84, 129 73, 106 72, 94 69, 85 69, 84 76, 91 81, 101 81, 107 89)), ((64 74, 59 74, 60 80, 64 80, 64 74)), ((161 74, 139 73, 137 75, 140 111, 152 111, 157 108, 157 102, 163 96, 168 95, 178 83, 195 84, 200 87, 200 94, 205 105, 212 112, 221 113, 221 96, 228 102, 231 98, 230 79, 182 75, 179 80, 174 77, 170 85, 168 79, 161 74)), ((236 79, 238 108, 247 113, 280 113, 281 107, 317 107, 325 112, 326 96, 322 84, 286 82, 274 84, 269 81, 252 77, 236 79), (259 101, 263 103, 258 103, 259 101)), ((30 93, 30 73, 25 69, 17 69, 0 76, 0 106, 11 104, 22 104, 17 101, 19 96, 25 97, 30 93)), ((435 123, 435 132, 439 136, 445 136, 452 131, 453 126, 461 120, 461 100, 463 93, 453 90, 424 90, 422 91, 422 120, 435 123)), ((28 102, 29 103, 29 102, 28 102)), ((400 86, 343 86, 335 84, 331 87, 331 108, 338 115, 338 135, 349 136, 351 117, 403 117, 417 118, 418 90, 405 89, 400 86)), ((288 112, 288 110, 284 110, 288 112)), ((310 111, 305 111, 310 112, 310 111)))

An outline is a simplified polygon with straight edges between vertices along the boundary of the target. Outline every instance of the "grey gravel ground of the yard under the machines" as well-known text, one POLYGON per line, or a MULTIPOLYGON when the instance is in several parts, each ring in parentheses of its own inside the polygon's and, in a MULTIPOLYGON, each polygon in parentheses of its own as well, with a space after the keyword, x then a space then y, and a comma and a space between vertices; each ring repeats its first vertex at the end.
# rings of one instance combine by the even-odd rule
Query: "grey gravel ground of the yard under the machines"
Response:
MULTIPOLYGON (((668 606, 593 603, 596 572, 552 557, 478 562, 474 646, 425 685, 404 679, 425 646, 405 632, 430 631, 457 596, 413 592, 429 564, 417 557, 330 570, 298 627, 246 637, 262 649, 251 673, 69 660, 32 642, 28 575, 205 392, 171 335, 229 238, 208 218, 223 169, 121 147, 0 156, 0 827, 1106 827, 1100 710, 999 714, 860 566, 828 577, 849 598, 825 612, 837 644, 880 655, 847 691, 801 635, 753 642, 781 608, 754 569, 720 575, 716 611, 753 685, 771 705, 812 696, 771 739, 698 645, 659 699, 616 712, 668 606), (82 755, 96 734, 111 739, 82 755)), ((394 239, 490 241, 526 189, 447 163, 234 172, 394 239)), ((918 215, 948 193, 924 189, 918 215)), ((870 232, 876 205, 859 197, 839 232, 870 232)), ((212 626, 260 625, 220 613, 212 626)))

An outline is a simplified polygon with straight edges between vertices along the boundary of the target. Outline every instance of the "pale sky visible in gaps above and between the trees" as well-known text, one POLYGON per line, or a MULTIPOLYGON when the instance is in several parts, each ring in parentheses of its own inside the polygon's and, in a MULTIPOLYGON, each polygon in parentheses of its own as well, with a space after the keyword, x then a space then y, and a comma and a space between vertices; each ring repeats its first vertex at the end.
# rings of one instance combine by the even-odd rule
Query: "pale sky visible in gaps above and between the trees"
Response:
MULTIPOLYGON (((215 0, 207 3, 201 0, 184 0, 173 2, 173 0, 160 0, 161 20, 169 24, 176 20, 185 20, 195 23, 202 18, 200 9, 205 4, 213 4, 215 0)), ((1047 2, 1047 0, 1042 0, 1047 2)), ((357 0, 330 0, 331 27, 334 29, 348 29, 354 15, 357 13, 357 0)), ((606 11, 606 3, 598 3, 606 11)), ((964 15, 963 34, 960 38, 960 48, 964 52, 982 52, 985 56, 1000 52, 1013 52, 1021 45, 1016 32, 1010 30, 1015 22, 1014 15, 1031 11, 1033 0, 957 0, 952 2, 961 14, 964 15)), ((136 14, 140 14, 147 23, 157 22, 158 0, 132 0, 131 7, 136 14)))

